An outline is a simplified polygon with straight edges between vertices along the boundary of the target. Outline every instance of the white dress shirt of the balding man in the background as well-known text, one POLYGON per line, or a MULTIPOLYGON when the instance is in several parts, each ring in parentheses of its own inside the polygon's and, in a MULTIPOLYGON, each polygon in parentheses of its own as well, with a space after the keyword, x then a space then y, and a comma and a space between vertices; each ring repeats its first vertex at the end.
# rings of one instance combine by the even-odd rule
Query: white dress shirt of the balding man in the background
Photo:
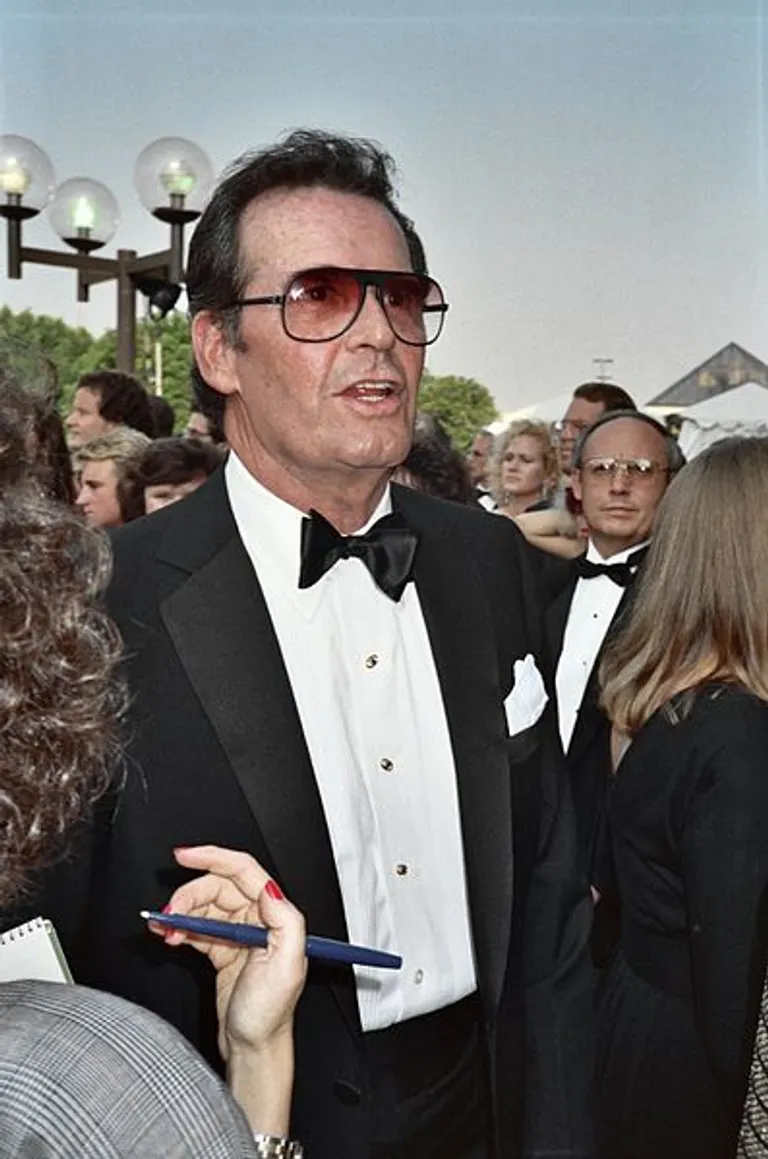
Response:
MULTIPOLYGON (((590 540, 586 557, 591 563, 626 563, 634 552, 644 546, 634 544, 627 551, 604 559, 590 540)), ((568 752, 590 675, 624 591, 608 576, 579 577, 576 582, 555 676, 563 752, 568 752)))

